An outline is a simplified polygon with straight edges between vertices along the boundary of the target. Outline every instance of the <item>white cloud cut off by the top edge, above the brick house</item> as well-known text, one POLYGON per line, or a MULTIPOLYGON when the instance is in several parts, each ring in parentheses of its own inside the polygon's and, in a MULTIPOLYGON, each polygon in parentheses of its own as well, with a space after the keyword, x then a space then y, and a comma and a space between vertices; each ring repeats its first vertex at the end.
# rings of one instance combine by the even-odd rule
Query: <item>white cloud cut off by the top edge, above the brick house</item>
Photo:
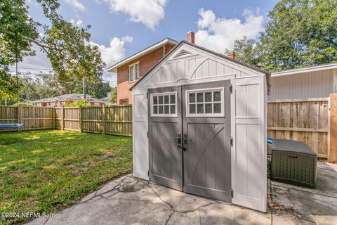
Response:
POLYGON ((164 7, 167 0, 105 0, 111 11, 124 12, 130 15, 130 20, 143 23, 152 30, 164 18, 164 7))

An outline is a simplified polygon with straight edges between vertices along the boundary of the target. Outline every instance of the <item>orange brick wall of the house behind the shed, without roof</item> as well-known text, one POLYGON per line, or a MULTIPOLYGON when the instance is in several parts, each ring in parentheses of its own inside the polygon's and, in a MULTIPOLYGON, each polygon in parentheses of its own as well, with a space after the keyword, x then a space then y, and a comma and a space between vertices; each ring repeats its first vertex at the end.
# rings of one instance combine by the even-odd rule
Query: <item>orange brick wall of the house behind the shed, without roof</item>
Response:
POLYGON ((128 99, 129 104, 132 104, 133 102, 131 97, 132 91, 129 89, 136 84, 137 81, 128 81, 128 66, 139 62, 139 77, 143 77, 159 60, 161 60, 161 58, 169 53, 173 47, 173 44, 166 44, 159 49, 147 53, 144 56, 140 56, 117 68, 117 104, 120 104, 123 99, 128 99))

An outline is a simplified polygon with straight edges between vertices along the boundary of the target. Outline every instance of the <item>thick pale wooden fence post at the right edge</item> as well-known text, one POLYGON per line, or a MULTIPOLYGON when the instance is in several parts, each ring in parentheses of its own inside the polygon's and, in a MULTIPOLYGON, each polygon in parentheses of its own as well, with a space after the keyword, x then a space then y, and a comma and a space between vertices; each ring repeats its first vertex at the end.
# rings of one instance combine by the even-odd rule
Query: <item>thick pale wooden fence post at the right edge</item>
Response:
POLYGON ((337 161, 337 93, 330 94, 330 148, 328 162, 337 161))

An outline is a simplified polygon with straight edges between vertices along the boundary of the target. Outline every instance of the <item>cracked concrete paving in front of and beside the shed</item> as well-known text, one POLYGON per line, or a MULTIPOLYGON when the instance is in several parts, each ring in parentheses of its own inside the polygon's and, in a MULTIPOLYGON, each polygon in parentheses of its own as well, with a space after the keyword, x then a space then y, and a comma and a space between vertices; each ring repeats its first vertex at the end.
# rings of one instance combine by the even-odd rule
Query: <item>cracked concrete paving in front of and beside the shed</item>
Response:
POLYGON ((327 173, 331 176, 329 180, 335 183, 324 183, 323 189, 317 186, 316 193, 310 192, 310 188, 272 182, 272 202, 267 213, 189 195, 126 175, 87 195, 81 203, 63 210, 59 217, 35 219, 29 224, 334 223, 337 221, 337 167, 335 171, 328 170, 329 166, 324 169, 324 166, 319 167, 319 173, 323 173, 319 176, 325 177, 327 173), (326 188, 326 185, 331 185, 335 191, 327 190, 331 187, 326 188))

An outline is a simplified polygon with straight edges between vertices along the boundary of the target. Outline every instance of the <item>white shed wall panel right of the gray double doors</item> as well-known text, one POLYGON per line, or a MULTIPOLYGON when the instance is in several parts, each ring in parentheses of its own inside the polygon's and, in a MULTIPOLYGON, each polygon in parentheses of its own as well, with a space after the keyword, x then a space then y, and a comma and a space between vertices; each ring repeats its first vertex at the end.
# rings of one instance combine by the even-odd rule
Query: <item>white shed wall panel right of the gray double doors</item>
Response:
POLYGON ((235 148, 232 177, 235 203, 265 212, 267 160, 265 153, 264 77, 235 80, 235 148))

